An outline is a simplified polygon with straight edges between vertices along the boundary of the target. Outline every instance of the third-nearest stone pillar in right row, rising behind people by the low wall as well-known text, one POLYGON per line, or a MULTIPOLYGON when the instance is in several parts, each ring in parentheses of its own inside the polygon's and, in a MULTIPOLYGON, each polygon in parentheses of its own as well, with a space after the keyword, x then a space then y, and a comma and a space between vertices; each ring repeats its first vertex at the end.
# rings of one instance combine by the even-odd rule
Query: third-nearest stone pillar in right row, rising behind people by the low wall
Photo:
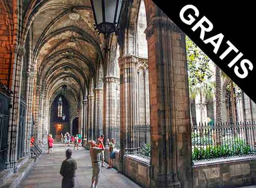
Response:
POLYGON ((105 76, 103 78, 103 134, 105 141, 112 138, 112 127, 116 126, 116 83, 118 78, 105 76))

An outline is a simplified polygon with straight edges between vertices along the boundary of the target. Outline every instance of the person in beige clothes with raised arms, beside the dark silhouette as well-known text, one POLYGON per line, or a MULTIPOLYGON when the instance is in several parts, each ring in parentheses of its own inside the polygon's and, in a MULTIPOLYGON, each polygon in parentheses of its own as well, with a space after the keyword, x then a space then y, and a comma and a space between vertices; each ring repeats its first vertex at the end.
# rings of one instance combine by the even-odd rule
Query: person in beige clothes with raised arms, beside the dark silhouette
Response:
POLYGON ((97 188, 98 180, 99 180, 99 172, 100 172, 100 154, 104 152, 105 147, 103 141, 100 140, 102 144, 102 148, 97 147, 97 144, 94 140, 91 141, 91 149, 89 150, 91 159, 92 159, 92 167, 93 167, 93 176, 92 176, 92 185, 91 188, 97 188))

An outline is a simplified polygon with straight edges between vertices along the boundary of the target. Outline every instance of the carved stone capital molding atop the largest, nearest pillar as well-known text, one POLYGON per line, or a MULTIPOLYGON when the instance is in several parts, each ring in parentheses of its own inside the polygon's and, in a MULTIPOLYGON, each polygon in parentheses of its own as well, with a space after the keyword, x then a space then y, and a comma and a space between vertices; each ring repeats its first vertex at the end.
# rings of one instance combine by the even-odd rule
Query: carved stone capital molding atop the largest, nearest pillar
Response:
POLYGON ((171 32, 174 33, 183 33, 180 28, 178 28, 177 25, 173 23, 172 20, 170 20, 167 17, 155 17, 152 18, 152 20, 149 22, 145 34, 146 34, 146 39, 150 38, 153 33, 155 33, 155 30, 170 30, 171 32))

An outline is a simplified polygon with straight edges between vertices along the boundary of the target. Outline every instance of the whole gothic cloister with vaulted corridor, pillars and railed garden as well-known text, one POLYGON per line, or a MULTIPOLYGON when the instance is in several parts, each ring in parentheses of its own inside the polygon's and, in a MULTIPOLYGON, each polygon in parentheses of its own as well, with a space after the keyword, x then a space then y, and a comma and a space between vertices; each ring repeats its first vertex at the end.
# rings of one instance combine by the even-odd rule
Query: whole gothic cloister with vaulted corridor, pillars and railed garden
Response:
POLYGON ((255 185, 255 120, 152 0, 0 0, 0 187, 59 187, 67 147, 44 147, 67 132, 82 145, 76 187, 101 135, 105 162, 116 143, 99 188, 255 185))

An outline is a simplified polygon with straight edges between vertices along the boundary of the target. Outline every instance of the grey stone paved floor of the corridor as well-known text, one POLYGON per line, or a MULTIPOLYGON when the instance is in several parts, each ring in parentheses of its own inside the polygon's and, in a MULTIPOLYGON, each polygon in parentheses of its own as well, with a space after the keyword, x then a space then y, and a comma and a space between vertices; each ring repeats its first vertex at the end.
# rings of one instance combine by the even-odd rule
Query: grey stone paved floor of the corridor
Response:
MULTIPOLYGON (((19 185, 20 188, 54 188, 61 187, 61 176, 59 174, 60 166, 63 160, 65 160, 65 151, 68 146, 62 144, 54 145, 53 154, 44 154, 38 159, 37 164, 31 170, 28 176, 19 185)), ((78 164, 78 170, 76 170, 75 188, 90 187, 92 177, 91 157, 89 152, 83 147, 79 147, 79 151, 75 150, 72 153, 72 157, 75 158, 78 164)), ((136 187, 137 184, 131 181, 129 178, 123 176, 115 169, 100 170, 100 179, 98 183, 99 188, 126 188, 136 187)))

